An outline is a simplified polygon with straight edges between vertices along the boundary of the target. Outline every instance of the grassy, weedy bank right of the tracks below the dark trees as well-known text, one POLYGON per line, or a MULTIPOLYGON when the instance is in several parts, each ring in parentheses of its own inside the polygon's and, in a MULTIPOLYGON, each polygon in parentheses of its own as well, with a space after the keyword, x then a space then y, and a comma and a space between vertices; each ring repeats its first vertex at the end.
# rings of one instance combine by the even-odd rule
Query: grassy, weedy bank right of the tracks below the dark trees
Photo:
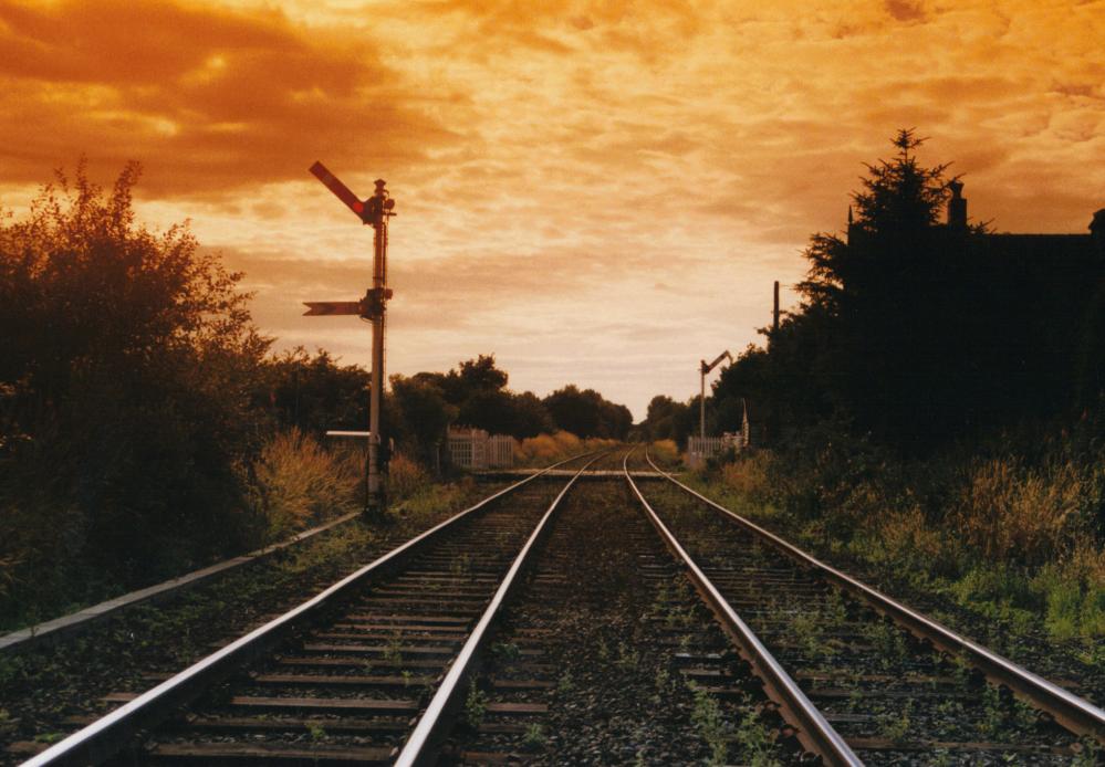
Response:
POLYGON ((1067 443, 904 461, 845 438, 755 451, 691 484, 821 556, 1091 645, 1105 638, 1105 449, 1067 443))

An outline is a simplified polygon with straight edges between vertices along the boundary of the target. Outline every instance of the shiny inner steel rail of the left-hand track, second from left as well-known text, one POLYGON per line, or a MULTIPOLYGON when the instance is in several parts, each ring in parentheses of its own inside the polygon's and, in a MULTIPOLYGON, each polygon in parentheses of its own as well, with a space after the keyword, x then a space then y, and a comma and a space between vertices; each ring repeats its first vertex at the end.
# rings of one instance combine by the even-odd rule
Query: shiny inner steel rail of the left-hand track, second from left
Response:
POLYGON ((449 666, 449 671, 446 673, 445 679, 441 684, 438 685, 437 692, 430 700, 429 705, 426 706, 426 711, 421 718, 418 721, 418 725, 415 731, 407 738, 403 750, 396 757, 394 763, 395 767, 414 767, 415 765, 432 765, 437 764, 438 755, 435 752, 438 743, 445 735, 445 727, 448 724, 447 714, 451 712, 460 701, 461 683, 465 677, 468 676, 470 669, 473 665, 477 653, 479 652, 480 644, 483 642, 488 634, 488 630, 491 622, 496 619, 500 608, 507 601, 511 591, 519 584, 520 579, 518 577, 522 568, 527 565, 527 559, 530 553, 535 548, 538 542, 544 536, 545 532, 549 529, 549 519, 552 518, 553 513, 560 506, 561 500, 567 494, 567 491, 572 488, 576 480, 587 470, 593 463, 604 458, 604 455, 598 455, 580 469, 564 488, 556 495, 553 502, 549 505, 549 509, 541 517, 533 533, 530 534, 529 539, 522 549, 519 551, 518 556, 514 558, 513 564, 510 566, 510 570, 503 577, 502 582, 496 590, 494 596, 488 603, 487 609, 483 614, 480 616, 479 622, 472 632, 468 635, 468 640, 465 645, 457 653, 456 660, 452 665, 449 666))

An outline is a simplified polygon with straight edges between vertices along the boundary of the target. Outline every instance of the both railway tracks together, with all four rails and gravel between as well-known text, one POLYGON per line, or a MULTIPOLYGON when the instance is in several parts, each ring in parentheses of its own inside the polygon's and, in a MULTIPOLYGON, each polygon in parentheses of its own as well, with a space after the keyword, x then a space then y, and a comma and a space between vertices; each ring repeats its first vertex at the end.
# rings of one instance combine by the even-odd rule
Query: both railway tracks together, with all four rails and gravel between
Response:
POLYGON ((1101 710, 633 462, 515 483, 27 764, 1049 765, 1103 739, 1101 710))

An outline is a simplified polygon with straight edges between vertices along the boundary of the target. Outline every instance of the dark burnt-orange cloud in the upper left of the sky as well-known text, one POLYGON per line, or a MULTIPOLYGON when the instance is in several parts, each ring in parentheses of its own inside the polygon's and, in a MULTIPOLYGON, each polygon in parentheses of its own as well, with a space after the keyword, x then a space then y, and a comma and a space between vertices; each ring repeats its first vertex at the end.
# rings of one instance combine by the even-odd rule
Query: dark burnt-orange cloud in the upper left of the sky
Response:
POLYGON ((9 182, 86 153, 94 169, 143 161, 158 196, 243 193, 321 157, 402 168, 455 139, 371 40, 278 10, 3 0, 0 49, 9 182))

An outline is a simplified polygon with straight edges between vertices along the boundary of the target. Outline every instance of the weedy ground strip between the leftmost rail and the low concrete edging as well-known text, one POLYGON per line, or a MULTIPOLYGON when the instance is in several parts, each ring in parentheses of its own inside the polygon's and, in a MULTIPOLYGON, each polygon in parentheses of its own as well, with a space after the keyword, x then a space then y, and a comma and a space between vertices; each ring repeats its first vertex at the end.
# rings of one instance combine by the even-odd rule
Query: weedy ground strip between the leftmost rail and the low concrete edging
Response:
POLYGON ((101 711, 103 695, 153 686, 144 674, 176 673, 213 644, 286 611, 501 484, 423 483, 383 522, 342 525, 209 586, 124 610, 79 635, 0 654, 0 764, 7 764, 6 745, 60 739, 76 728, 66 718, 101 711))

